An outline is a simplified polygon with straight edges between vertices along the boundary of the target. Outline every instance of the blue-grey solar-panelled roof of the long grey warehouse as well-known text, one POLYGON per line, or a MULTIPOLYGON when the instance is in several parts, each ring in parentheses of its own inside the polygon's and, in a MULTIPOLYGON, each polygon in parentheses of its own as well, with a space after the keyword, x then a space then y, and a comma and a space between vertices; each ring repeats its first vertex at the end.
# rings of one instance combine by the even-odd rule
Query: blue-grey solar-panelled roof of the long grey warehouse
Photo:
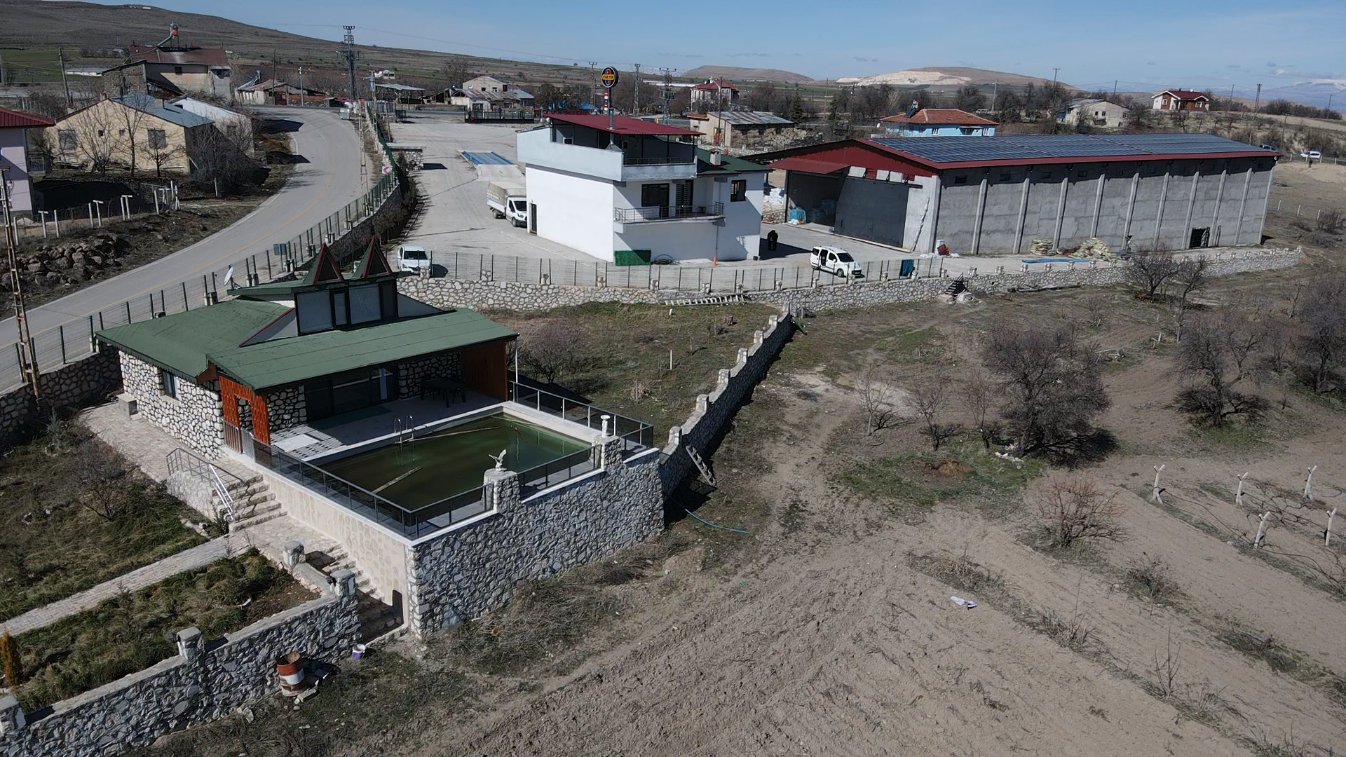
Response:
POLYGON ((1201 133, 930 136, 860 141, 934 167, 1267 155, 1265 150, 1250 144, 1201 133))

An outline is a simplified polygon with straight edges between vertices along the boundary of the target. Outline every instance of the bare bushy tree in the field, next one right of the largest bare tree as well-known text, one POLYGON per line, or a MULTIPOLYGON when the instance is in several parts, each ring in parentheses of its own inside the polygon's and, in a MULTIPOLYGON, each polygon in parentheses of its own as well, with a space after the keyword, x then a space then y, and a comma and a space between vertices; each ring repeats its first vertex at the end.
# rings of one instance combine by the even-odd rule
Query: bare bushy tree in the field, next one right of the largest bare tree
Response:
POLYGON ((1260 322, 1226 308, 1219 318, 1198 318, 1187 329, 1178 361, 1191 384, 1178 393, 1178 407, 1211 426, 1233 416, 1256 423, 1267 400, 1246 389, 1265 330, 1260 322))

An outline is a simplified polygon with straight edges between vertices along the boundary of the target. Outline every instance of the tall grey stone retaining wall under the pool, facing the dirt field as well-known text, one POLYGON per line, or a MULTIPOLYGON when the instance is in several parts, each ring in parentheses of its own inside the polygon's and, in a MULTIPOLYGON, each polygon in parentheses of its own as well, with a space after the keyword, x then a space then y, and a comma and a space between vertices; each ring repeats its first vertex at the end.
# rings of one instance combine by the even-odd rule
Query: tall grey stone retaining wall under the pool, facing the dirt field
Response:
POLYGON ((406 606, 416 633, 503 606, 526 579, 556 575, 662 531, 658 455, 649 450, 622 461, 619 443, 600 439, 596 446, 603 470, 522 501, 517 474, 487 471, 495 512, 411 547, 406 606))

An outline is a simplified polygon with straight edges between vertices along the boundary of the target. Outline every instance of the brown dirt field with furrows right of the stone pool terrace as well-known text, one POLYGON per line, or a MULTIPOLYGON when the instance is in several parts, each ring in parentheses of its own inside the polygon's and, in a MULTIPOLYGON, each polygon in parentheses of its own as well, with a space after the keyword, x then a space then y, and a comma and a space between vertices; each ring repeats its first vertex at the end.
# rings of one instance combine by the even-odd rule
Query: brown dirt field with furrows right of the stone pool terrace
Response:
MULTIPOLYGON (((1292 171, 1277 178, 1334 197, 1292 171)), ((1273 236, 1287 228, 1268 224, 1273 236)), ((1201 299, 1287 307, 1335 269, 1339 238, 1326 241, 1306 240, 1296 269, 1221 279, 1201 299)), ((1322 546, 1346 488, 1339 401, 1268 376, 1263 426, 1197 428, 1172 405, 1182 378, 1172 346, 1156 342, 1164 308, 1104 290, 1089 338, 1117 356, 1098 419, 1116 446, 1082 474, 1121 504, 1127 537, 1070 551, 1040 546, 1034 508, 1063 471, 995 457, 966 432, 938 453, 911 423, 864 434, 856 385, 868 361, 888 366, 900 408, 923 377, 965 372, 988 325, 1078 321, 1097 296, 810 318, 715 453, 719 488, 685 489, 669 506, 704 520, 674 513, 643 567, 583 579, 604 599, 564 645, 485 669, 439 641, 402 643, 335 676, 308 709, 273 707, 256 723, 249 711, 148 753, 1341 753, 1346 572, 1334 566, 1341 541, 1322 546), (1156 559, 1147 575, 1164 585, 1151 591, 1136 568, 1156 559)), ((945 420, 970 423, 957 404, 945 420)), ((491 633, 526 633, 529 612, 491 633)))

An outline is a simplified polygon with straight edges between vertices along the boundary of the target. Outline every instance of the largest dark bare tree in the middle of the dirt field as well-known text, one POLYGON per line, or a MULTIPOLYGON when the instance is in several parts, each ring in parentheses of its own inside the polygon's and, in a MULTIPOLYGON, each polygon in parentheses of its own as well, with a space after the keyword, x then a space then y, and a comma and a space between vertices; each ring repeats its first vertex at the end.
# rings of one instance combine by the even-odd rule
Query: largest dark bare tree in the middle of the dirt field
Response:
POLYGON ((1071 455, 1110 404, 1098 348, 1065 326, 996 325, 983 350, 1004 397, 1001 415, 1019 454, 1071 455))

